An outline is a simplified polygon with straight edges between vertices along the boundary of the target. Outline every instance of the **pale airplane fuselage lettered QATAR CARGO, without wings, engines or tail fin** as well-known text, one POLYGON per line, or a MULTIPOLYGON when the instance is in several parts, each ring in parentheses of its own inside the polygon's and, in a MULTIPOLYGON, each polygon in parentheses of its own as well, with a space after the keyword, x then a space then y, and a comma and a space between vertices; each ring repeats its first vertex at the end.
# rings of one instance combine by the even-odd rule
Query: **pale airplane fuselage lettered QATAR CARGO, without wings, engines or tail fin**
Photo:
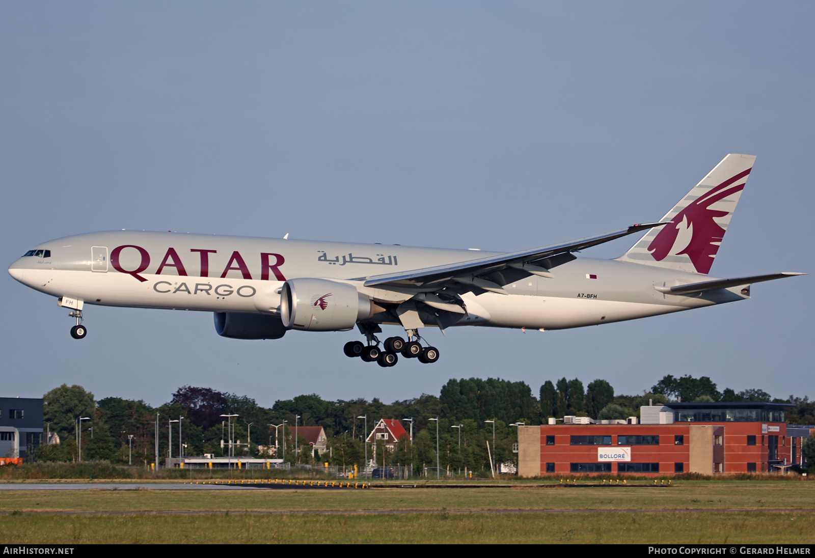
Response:
MULTIPOLYGON (((53 297, 79 299, 86 305, 271 315, 279 313, 280 288, 287 279, 361 285, 371 275, 500 254, 144 231, 68 236, 31 252, 15 261, 9 273, 53 297)), ((466 292, 461 299, 467 313, 450 325, 562 329, 749 298, 738 288, 692 296, 658 292, 654 287, 715 278, 628 261, 579 257, 557 266, 552 275, 528 275, 502 285, 506 295, 466 292)), ((359 289, 377 299, 376 288, 359 289)))

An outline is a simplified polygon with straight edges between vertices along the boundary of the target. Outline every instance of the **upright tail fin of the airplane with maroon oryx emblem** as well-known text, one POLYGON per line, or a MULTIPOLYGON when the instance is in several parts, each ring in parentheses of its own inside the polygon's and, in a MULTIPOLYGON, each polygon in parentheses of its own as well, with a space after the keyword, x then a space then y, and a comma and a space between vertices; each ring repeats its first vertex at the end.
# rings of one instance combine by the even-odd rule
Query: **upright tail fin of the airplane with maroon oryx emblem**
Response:
POLYGON ((651 229, 617 259, 707 275, 755 161, 726 156, 659 220, 670 224, 651 229))

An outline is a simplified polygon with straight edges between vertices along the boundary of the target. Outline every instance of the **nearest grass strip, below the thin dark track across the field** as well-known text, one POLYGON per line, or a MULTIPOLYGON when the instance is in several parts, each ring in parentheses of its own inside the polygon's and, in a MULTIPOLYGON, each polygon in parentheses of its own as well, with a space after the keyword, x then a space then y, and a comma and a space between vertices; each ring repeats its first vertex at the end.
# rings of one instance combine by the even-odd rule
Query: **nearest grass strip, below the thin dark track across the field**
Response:
POLYGON ((812 543, 813 513, 0 518, 5 543, 812 543))

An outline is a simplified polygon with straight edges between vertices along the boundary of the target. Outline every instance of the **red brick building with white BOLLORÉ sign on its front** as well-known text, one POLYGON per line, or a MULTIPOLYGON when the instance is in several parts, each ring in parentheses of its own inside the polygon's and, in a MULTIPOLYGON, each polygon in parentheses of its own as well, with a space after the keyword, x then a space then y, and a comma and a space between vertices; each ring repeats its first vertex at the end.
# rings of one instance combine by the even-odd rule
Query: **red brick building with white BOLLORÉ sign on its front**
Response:
POLYGON ((706 475, 781 470, 796 462, 784 403, 669 403, 641 407, 656 424, 518 427, 518 475, 706 475), (659 424, 662 422, 663 424, 659 424))

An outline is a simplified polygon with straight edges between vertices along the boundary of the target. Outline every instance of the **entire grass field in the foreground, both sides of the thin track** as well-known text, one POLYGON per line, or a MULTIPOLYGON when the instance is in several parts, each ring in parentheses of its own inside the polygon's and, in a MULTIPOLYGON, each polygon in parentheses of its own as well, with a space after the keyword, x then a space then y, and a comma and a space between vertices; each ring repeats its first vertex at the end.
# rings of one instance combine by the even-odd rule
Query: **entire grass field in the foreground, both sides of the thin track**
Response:
POLYGON ((671 488, 0 491, 0 512, 6 512, 0 525, 7 543, 811 544, 815 512, 804 510, 813 508, 811 482, 681 481, 671 488), (720 511, 735 508, 755 511, 720 511), (779 508, 785 511, 761 511, 779 508), (676 512, 623 511, 630 509, 676 512), (306 513, 246 513, 269 510, 306 513), (366 510, 428 512, 374 515, 366 510))

